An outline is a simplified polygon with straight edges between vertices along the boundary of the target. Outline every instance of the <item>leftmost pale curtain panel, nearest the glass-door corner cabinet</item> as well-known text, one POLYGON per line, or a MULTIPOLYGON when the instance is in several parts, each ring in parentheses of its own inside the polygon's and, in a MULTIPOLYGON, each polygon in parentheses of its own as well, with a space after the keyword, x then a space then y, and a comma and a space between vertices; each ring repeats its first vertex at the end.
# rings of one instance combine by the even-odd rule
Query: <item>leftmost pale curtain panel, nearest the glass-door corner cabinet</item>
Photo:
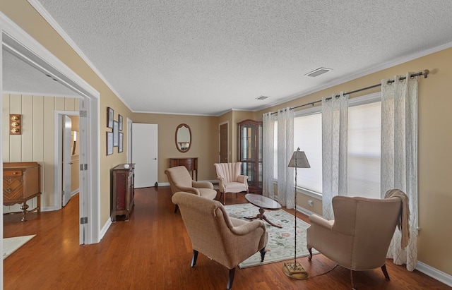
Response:
POLYGON ((273 186, 273 168, 275 167, 275 114, 266 113, 262 115, 262 131, 262 194, 268 198, 275 199, 275 188, 273 186))

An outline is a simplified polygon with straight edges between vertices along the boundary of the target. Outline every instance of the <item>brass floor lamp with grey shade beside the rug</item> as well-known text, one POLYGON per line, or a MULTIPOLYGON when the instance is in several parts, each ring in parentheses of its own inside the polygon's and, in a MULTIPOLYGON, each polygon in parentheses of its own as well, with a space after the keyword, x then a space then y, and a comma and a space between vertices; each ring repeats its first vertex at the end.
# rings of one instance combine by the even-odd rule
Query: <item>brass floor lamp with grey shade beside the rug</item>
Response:
POLYGON ((300 151, 299 147, 290 159, 288 167, 295 167, 295 257, 294 262, 285 262, 283 272, 287 276, 294 279, 307 279, 308 273, 303 266, 297 262, 297 168, 311 168, 304 151, 300 151))

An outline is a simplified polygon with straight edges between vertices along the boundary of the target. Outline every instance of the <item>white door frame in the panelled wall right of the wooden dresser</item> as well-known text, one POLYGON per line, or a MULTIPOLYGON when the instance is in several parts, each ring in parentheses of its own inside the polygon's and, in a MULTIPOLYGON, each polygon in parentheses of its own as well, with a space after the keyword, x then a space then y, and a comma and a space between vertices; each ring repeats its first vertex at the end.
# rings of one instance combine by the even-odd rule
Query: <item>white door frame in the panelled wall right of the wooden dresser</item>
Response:
MULTIPOLYGON (((80 116, 79 111, 54 111, 54 164, 61 164, 63 162, 63 117, 67 116, 80 116)), ((79 139, 79 138, 78 138, 79 139)), ((78 144, 78 143, 77 143, 78 144)), ((61 210, 62 200, 61 191, 63 191, 63 185, 61 183, 61 176, 63 174, 63 168, 57 166, 54 170, 54 206, 51 210, 61 210)), ((79 181, 79 184, 81 181, 79 181)), ((49 208, 49 207, 47 207, 49 208)), ((50 209, 50 208, 49 208, 50 209)))

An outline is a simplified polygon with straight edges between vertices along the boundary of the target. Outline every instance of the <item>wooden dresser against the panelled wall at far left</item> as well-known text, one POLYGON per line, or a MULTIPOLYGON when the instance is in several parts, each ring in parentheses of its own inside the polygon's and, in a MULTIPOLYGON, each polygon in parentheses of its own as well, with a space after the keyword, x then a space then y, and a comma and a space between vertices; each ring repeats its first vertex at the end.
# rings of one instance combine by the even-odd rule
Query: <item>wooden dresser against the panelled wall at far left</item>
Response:
POLYGON ((3 204, 22 204, 22 221, 27 212, 41 211, 41 165, 37 162, 4 162, 3 204), (37 206, 28 210, 27 200, 37 198, 37 206))

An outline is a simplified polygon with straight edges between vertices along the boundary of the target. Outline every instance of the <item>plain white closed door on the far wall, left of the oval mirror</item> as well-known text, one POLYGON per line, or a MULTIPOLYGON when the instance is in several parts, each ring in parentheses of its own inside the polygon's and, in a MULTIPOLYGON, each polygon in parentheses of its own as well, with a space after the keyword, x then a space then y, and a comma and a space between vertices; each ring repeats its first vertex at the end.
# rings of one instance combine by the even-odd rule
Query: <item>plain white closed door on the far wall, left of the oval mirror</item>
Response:
POLYGON ((157 124, 132 124, 132 163, 135 163, 135 188, 157 183, 157 124))

